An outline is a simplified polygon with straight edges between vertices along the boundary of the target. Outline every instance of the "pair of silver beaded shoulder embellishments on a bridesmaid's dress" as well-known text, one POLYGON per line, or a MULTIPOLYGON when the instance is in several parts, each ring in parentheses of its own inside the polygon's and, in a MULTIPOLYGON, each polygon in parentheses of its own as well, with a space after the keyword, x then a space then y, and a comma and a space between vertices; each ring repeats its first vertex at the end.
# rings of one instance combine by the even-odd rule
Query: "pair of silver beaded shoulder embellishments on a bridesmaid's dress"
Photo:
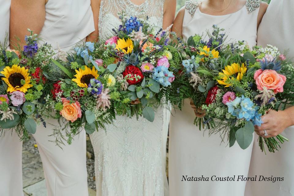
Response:
MULTIPOLYGON (((185 9, 188 10, 192 17, 198 7, 198 2, 199 0, 191 0, 185 3, 185 9)), ((247 8, 248 13, 251 13, 257 8, 259 8, 260 4, 261 0, 247 0, 245 6, 247 8)))

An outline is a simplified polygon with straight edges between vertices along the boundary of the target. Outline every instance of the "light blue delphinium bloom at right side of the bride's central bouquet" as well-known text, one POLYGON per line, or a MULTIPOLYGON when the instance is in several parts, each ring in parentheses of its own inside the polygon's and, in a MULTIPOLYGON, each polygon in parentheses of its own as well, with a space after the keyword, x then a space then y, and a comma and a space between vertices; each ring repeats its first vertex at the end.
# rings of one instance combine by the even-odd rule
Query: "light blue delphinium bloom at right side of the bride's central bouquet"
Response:
POLYGON ((170 77, 175 77, 175 76, 173 75, 173 72, 168 71, 167 67, 158 66, 154 69, 153 80, 155 80, 159 84, 163 86, 171 85, 171 83, 168 81, 168 78, 170 77))

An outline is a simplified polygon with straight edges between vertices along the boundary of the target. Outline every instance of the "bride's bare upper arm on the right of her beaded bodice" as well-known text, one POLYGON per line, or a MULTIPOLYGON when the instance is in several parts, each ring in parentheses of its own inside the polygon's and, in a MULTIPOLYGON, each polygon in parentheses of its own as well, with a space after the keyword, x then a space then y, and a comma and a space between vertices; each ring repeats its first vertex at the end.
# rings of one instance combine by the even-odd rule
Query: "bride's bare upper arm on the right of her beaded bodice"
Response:
POLYGON ((163 7, 163 25, 162 28, 168 28, 175 19, 176 0, 165 0, 163 7))

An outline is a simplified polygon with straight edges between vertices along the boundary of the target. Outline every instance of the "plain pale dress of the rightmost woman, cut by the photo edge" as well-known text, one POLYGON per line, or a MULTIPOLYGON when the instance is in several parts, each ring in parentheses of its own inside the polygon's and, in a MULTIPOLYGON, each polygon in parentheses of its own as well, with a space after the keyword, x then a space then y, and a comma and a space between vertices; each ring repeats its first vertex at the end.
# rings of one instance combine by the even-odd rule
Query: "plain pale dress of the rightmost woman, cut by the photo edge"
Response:
MULTIPOLYGON (((289 50, 288 57, 294 59, 293 10, 292 0, 272 0, 258 28, 258 45, 266 47, 267 44, 271 44, 278 47, 281 52, 289 50)), ((285 129, 282 135, 288 138, 289 142, 282 144, 278 152, 266 155, 260 151, 255 139, 249 175, 257 175, 258 178, 259 175, 283 177, 284 181, 247 182, 246 196, 294 194, 294 126, 285 129)))

